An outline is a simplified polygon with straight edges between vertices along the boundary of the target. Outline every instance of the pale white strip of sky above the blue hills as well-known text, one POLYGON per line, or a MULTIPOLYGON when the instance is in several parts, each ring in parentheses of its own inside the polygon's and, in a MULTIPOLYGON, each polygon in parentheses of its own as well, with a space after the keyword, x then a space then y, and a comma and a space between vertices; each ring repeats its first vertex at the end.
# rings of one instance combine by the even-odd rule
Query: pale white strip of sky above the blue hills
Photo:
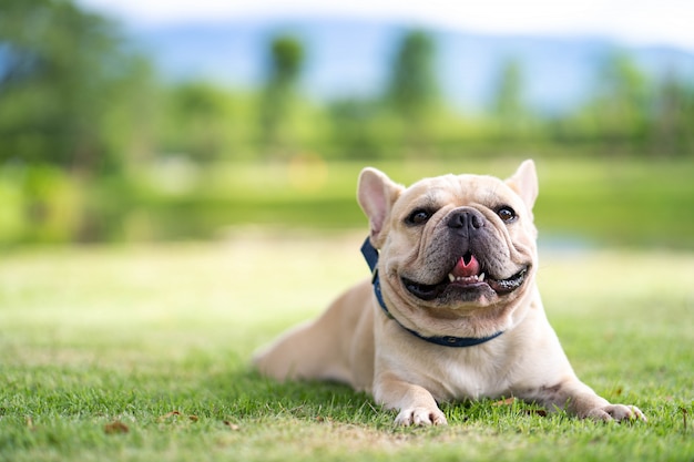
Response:
POLYGON ((694 0, 76 0, 135 25, 339 17, 493 34, 599 35, 694 51, 694 0))

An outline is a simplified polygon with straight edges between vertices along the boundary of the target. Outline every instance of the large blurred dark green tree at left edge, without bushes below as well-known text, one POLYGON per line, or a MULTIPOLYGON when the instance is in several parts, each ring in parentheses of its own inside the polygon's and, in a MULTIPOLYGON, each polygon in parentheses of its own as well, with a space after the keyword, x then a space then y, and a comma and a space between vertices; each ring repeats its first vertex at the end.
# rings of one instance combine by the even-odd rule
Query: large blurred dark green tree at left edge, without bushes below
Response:
POLYGON ((69 0, 3 0, 0 162, 118 168, 121 153, 109 140, 124 133, 106 117, 142 64, 113 23, 69 0))

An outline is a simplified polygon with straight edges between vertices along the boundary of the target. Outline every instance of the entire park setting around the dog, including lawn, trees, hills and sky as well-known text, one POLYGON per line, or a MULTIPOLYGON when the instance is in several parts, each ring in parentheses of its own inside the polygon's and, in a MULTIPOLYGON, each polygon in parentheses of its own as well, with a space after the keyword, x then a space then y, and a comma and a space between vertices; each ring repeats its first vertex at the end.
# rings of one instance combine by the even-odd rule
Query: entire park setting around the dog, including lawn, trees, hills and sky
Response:
POLYGON ((692 17, 0 0, 0 462, 691 462, 692 17), (348 387, 253 370, 368 277, 364 166, 407 184, 528 157, 548 317, 579 377, 647 423, 511 397, 399 429, 348 387))

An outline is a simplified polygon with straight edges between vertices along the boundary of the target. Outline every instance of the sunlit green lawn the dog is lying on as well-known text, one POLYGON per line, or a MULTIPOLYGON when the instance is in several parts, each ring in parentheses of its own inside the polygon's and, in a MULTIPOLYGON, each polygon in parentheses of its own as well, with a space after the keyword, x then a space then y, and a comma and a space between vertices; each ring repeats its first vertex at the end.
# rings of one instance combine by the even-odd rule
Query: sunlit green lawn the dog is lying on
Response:
POLYGON ((647 423, 443 407, 400 429, 335 383, 279 384, 252 351, 367 274, 360 234, 14 250, 0 260, 0 461, 592 461, 694 456, 694 255, 542 253, 579 376, 647 423))

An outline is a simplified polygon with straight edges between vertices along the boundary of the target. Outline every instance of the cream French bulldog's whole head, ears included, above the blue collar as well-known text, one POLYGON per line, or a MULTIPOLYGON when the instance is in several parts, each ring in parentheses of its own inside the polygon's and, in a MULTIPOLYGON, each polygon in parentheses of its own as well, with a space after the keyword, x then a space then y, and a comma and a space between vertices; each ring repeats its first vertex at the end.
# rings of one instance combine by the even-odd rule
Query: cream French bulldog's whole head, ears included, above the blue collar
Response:
POLYGON ((391 310, 408 327, 435 335, 459 332, 455 321, 461 319, 471 335, 503 328, 532 290, 537 195, 532 161, 507 181, 446 175, 408 188, 365 168, 358 199, 371 244, 380 250, 381 286, 391 310))

